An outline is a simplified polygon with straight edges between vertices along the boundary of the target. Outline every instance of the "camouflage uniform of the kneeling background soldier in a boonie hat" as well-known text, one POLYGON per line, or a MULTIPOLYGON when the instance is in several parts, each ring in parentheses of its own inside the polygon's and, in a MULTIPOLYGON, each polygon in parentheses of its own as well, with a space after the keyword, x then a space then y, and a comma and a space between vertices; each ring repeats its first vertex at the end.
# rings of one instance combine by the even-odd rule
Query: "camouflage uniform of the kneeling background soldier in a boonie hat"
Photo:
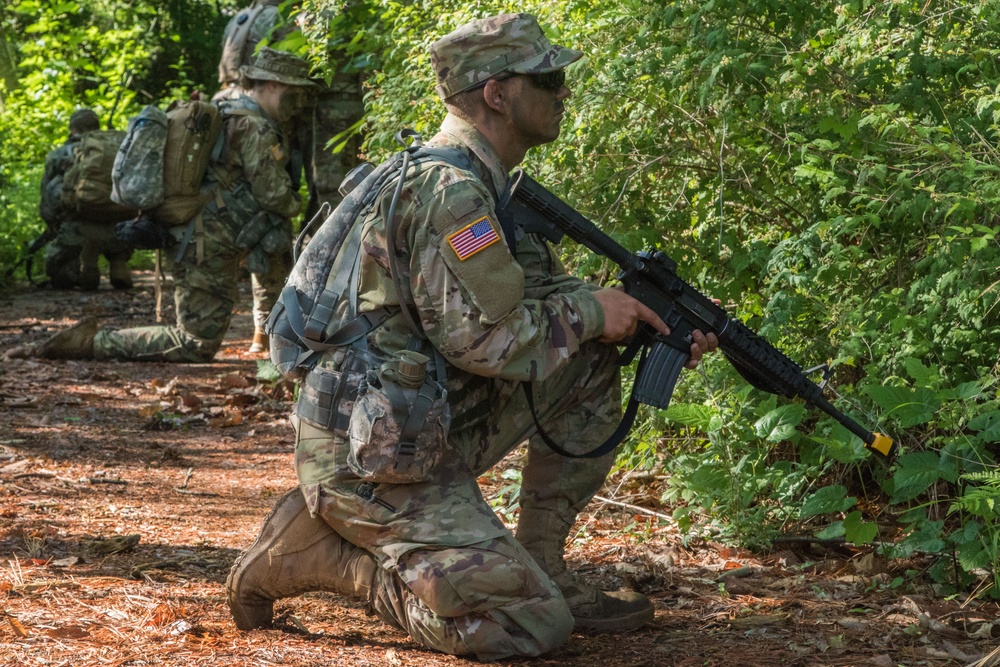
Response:
MULTIPOLYGON (((229 328, 240 262, 247 254, 237 245, 238 233, 261 211, 285 222, 298 214, 301 199, 285 169, 287 146, 277 124, 248 97, 226 103, 223 109, 225 148, 208 177, 219 183, 219 196, 191 223, 194 238, 183 254, 177 258, 173 250, 166 253, 177 324, 99 331, 94 339, 96 357, 211 361, 229 328)), ((178 243, 186 231, 187 226, 170 230, 178 243)))

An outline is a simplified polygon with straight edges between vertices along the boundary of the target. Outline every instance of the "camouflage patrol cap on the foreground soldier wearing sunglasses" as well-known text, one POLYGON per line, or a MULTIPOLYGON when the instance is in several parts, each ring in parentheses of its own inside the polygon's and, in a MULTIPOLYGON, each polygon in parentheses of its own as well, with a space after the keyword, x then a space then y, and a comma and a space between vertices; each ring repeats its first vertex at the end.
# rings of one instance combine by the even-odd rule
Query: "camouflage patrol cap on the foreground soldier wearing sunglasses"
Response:
POLYGON ((582 51, 549 42, 531 14, 500 14, 467 23, 431 44, 441 99, 501 72, 540 74, 562 69, 582 51))

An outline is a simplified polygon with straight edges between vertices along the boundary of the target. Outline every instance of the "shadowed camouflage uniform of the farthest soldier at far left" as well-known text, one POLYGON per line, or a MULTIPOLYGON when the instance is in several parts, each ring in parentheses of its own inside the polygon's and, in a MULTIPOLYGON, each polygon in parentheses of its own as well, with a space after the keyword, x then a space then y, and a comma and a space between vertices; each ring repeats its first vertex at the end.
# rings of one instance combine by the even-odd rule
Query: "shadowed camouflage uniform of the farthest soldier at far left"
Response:
POLYGON ((131 287, 126 263, 132 247, 115 238, 114 225, 77 220, 62 204, 62 177, 73 164, 73 147, 83 133, 100 128, 97 115, 89 109, 74 112, 70 118, 70 136, 45 157, 39 212, 48 233, 54 234, 45 248, 45 274, 53 287, 76 286, 97 289, 101 276, 98 256, 111 265, 111 282, 116 288, 131 287))

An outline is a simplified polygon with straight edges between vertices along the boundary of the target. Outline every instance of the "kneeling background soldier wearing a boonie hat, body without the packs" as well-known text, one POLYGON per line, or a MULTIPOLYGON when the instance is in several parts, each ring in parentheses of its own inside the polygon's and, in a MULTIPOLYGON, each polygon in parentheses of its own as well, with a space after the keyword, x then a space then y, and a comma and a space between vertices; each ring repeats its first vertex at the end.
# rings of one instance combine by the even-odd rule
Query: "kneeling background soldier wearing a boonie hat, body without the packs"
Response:
POLYGON ((246 94, 220 104, 224 149, 206 177, 218 184, 219 196, 199 213, 190 243, 183 241, 187 225, 170 228, 183 248, 179 261, 166 254, 176 326, 98 331, 96 321, 83 320, 43 343, 39 354, 211 361, 229 328, 241 261, 289 248, 288 222, 302 202, 286 169, 281 126, 306 108, 313 85, 305 60, 264 48, 243 68, 246 94))

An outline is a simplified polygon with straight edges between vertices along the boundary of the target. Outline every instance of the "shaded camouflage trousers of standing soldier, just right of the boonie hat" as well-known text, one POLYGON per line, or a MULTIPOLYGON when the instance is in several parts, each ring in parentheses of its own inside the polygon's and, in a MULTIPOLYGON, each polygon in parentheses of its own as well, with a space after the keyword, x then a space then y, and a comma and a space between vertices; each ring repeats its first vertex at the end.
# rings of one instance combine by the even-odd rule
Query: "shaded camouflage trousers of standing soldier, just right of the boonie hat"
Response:
POLYGON ((298 135, 309 187, 306 220, 312 218, 323 202, 332 207, 340 203, 337 188, 347 172, 358 164, 361 139, 355 135, 336 153, 337 146, 327 144, 361 120, 364 112, 361 78, 357 74, 338 74, 329 88, 317 93, 312 122, 302 123, 298 135))

